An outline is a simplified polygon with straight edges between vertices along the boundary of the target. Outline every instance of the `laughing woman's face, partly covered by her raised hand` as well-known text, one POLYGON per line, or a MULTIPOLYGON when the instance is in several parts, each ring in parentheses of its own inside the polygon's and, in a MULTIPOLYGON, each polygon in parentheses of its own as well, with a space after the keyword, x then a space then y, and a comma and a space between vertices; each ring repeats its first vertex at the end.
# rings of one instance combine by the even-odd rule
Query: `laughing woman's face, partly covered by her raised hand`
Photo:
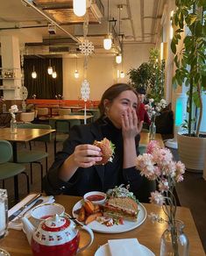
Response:
POLYGON ((121 117, 125 110, 131 109, 136 111, 137 105, 138 97, 131 90, 122 92, 112 103, 108 100, 104 101, 106 115, 117 128, 121 128, 122 126, 121 117))

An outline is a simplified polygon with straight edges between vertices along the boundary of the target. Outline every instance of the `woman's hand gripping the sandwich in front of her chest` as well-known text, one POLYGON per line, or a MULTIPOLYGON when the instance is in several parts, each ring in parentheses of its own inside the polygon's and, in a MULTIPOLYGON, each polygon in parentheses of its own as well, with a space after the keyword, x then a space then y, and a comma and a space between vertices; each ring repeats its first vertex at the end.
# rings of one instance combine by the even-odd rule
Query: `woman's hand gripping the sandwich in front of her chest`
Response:
POLYGON ((72 159, 76 167, 92 167, 97 161, 102 160, 101 149, 98 146, 84 144, 75 147, 72 159))

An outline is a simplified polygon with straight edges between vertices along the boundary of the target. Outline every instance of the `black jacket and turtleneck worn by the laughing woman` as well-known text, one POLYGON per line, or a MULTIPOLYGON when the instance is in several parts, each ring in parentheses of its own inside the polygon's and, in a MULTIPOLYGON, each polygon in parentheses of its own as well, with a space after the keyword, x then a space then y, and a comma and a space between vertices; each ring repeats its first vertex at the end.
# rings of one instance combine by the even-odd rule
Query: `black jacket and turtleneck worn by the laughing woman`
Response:
MULTIPOLYGON (((139 145, 139 135, 136 138, 139 145)), ((137 147, 138 148, 138 147, 137 147)), ((44 177, 43 186, 48 195, 83 196, 93 190, 106 192, 121 184, 130 183, 131 191, 141 202, 147 202, 151 191, 148 180, 139 174, 135 167, 123 168, 123 137, 121 129, 117 129, 109 119, 98 119, 92 124, 73 126, 63 149, 57 153, 55 161, 44 177), (79 167, 67 182, 59 179, 59 168, 67 157, 80 144, 93 144, 95 140, 110 139, 116 146, 114 159, 107 164, 83 168, 79 167), (148 190, 148 191, 147 191, 148 190)), ((153 190, 153 189, 152 189, 153 190)))

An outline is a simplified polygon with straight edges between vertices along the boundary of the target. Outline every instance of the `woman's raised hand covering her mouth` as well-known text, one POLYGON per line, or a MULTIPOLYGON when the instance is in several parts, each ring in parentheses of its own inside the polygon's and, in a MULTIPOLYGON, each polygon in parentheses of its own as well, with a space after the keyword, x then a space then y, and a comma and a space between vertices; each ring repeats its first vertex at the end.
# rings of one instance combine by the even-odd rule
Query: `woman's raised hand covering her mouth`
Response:
POLYGON ((135 138, 141 132, 143 122, 138 122, 135 110, 128 108, 122 115, 122 132, 124 139, 135 138))

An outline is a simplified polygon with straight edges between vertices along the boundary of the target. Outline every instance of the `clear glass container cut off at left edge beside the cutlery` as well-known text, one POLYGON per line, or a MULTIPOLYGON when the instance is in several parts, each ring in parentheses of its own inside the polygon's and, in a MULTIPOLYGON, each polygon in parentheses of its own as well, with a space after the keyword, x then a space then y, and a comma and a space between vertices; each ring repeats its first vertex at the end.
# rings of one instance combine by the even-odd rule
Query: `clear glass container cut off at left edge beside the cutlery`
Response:
MULTIPOLYGON (((8 226, 8 196, 6 189, 0 189, 0 239, 7 234, 8 226)), ((10 256, 3 248, 0 248, 1 256, 10 256)))

